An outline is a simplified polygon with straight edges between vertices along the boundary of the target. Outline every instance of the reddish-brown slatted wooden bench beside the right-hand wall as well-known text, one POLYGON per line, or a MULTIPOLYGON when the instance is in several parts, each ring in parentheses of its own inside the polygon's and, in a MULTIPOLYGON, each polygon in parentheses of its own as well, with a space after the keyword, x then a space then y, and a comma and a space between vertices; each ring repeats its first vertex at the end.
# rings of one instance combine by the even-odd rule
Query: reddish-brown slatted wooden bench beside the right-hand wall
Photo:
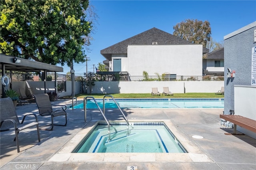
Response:
POLYGON ((225 119, 226 121, 230 121, 231 123, 234 123, 234 134, 237 134, 236 125, 256 133, 255 120, 240 115, 220 115, 220 118, 225 119))

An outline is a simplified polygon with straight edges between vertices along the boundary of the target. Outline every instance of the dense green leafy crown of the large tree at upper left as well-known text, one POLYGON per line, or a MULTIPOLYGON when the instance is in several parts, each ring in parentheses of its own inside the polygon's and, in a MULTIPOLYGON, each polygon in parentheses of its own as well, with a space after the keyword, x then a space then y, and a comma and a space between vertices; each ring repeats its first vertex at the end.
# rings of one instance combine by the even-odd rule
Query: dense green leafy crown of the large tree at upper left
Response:
POLYGON ((85 61, 88 0, 1 0, 0 53, 56 65, 85 61))

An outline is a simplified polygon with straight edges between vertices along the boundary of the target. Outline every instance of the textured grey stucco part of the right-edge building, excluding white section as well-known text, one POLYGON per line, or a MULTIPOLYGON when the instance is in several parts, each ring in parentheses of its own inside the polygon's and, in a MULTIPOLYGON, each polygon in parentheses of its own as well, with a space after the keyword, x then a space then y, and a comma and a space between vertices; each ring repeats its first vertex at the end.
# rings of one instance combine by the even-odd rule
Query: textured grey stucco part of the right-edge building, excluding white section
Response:
POLYGON ((255 46, 253 37, 255 29, 254 26, 224 40, 225 114, 228 114, 230 109, 234 110, 234 85, 251 85, 252 47, 255 46), (227 68, 236 71, 234 78, 226 77, 227 68))

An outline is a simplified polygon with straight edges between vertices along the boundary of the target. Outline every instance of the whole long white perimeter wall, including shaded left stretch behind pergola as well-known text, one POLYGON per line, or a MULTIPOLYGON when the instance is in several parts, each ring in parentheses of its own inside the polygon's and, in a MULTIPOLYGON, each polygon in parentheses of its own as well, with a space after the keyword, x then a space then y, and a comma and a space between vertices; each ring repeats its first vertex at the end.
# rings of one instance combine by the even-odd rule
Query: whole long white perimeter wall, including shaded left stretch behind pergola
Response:
MULTIPOLYGON (((33 94, 44 93, 44 81, 27 82, 33 94)), ((59 97, 71 96, 71 81, 67 81, 66 85, 66 91, 58 93, 59 97)), ((159 93, 163 92, 163 87, 169 87, 172 93, 216 93, 222 86, 224 81, 96 81, 92 87, 92 93, 151 93, 152 87, 157 87, 159 93)), ((12 89, 19 92, 19 88, 25 89, 26 95, 29 94, 25 81, 13 81, 12 89)), ((46 81, 46 91, 49 90, 54 90, 54 81, 46 81)), ((86 92, 87 89, 84 87, 83 93, 86 92)), ((81 85, 76 81, 75 94, 80 93, 82 93, 81 85)))

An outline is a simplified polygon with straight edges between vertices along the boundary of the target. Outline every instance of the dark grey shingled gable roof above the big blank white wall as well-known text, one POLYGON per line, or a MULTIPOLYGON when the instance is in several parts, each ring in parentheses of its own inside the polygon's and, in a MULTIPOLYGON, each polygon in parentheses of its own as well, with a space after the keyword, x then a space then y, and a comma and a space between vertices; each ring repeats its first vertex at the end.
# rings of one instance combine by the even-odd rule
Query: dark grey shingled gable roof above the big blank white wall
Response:
MULTIPOLYGON (((189 45, 194 44, 158 28, 151 28, 145 32, 137 34, 131 38, 128 38, 122 42, 116 43, 102 49, 100 53, 109 61, 111 61, 111 54, 127 53, 128 45, 152 45, 153 42, 157 42, 157 45, 189 45)), ((209 49, 203 47, 203 54, 208 53, 209 49)))

